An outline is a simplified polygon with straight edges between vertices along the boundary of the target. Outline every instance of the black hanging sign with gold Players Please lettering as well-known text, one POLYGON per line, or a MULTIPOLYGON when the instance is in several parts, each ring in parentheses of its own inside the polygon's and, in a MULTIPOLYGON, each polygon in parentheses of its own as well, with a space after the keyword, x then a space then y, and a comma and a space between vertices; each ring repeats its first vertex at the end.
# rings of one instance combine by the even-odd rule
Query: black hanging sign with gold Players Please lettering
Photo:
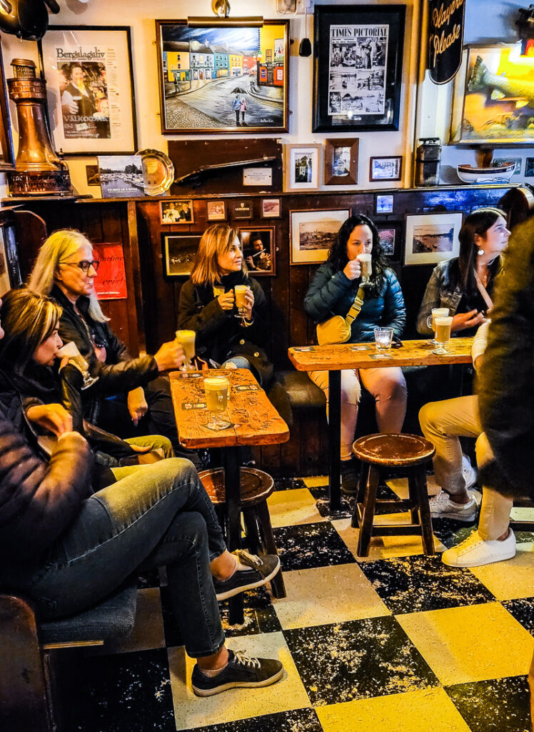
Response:
POLYGON ((435 84, 451 81, 462 64, 465 0, 429 0, 430 78, 435 84))

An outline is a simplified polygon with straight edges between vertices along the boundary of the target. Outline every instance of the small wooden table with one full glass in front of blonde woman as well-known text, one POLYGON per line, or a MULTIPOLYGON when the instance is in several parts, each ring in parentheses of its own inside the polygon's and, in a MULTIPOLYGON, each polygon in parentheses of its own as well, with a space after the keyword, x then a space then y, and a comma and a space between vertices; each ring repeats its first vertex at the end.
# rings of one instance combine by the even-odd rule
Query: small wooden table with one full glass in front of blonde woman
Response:
MULTIPOLYGON (((184 447, 222 447, 225 467, 226 534, 230 551, 241 542, 241 493, 239 451, 241 445, 268 445, 286 442, 289 429, 266 393, 247 369, 174 371, 170 389, 178 439, 184 447), (210 422, 204 395, 204 376, 226 376, 230 381, 228 408, 223 419, 232 422, 227 430, 209 430, 210 422)), ((230 623, 243 622, 243 597, 230 599, 230 623)))

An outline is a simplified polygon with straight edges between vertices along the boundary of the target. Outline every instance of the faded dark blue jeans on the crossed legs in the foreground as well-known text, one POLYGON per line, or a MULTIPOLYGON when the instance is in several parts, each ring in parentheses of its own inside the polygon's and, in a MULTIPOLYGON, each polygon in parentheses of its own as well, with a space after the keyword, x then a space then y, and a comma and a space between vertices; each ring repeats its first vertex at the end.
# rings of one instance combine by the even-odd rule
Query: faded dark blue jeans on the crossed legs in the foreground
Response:
POLYGON ((189 656, 224 644, 210 561, 225 551, 213 505, 189 460, 114 468, 117 482, 80 506, 33 572, 10 578, 44 619, 91 608, 140 567, 167 567, 170 600, 189 656))

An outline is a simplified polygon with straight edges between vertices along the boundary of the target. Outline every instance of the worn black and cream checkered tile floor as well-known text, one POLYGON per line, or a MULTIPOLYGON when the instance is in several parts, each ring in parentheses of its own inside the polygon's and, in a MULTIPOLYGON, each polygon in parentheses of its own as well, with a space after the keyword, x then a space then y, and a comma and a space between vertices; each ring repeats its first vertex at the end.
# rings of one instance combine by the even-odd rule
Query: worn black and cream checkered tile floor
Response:
MULTIPOLYGON (((349 504, 328 513, 326 479, 277 488, 287 598, 250 593, 244 625, 225 627, 231 648, 282 660, 282 681, 196 698, 165 583, 144 578, 132 637, 76 660, 69 732, 530 732, 534 534, 517 536, 514 559, 473 570, 423 556, 418 537, 373 539, 356 560, 349 504)), ((434 529, 443 550, 472 526, 434 529)))

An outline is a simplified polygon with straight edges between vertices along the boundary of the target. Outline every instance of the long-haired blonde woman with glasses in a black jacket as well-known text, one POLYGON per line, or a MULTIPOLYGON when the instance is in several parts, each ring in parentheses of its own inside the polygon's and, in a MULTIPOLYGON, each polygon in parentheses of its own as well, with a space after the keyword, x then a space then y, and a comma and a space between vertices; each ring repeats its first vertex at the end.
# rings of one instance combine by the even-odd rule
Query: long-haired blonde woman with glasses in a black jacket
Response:
POLYGON ((91 376, 98 377, 83 392, 84 416, 121 437, 168 437, 175 455, 198 465, 196 452, 178 442, 170 385, 162 376, 181 366, 184 352, 173 340, 163 343, 154 356, 132 358, 102 313, 94 290, 98 265, 84 234, 61 229, 42 244, 28 283, 30 290, 50 295, 61 305, 61 340, 73 341, 89 363, 91 376))

